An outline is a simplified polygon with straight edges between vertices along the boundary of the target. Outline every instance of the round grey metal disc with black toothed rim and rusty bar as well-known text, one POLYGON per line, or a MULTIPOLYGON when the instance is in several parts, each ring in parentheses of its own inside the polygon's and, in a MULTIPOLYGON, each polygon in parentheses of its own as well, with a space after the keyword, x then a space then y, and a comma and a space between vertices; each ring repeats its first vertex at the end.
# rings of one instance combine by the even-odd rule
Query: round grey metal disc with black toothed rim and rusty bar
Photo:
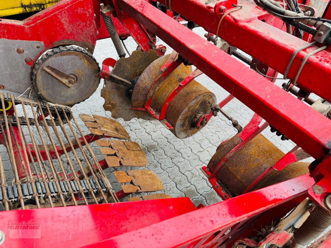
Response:
POLYGON ((48 51, 37 61, 32 71, 32 82, 46 101, 73 105, 95 92, 100 83, 96 76, 99 71, 98 63, 86 50, 59 47, 48 51))

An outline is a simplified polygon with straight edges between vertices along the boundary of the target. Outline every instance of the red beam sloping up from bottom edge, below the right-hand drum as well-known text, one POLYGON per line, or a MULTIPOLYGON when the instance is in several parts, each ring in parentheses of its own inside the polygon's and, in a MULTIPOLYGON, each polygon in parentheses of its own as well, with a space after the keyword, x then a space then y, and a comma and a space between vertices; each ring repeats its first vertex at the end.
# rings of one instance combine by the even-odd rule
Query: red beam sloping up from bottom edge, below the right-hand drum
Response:
POLYGON ((195 240, 207 240, 219 230, 225 232, 238 222, 305 194, 313 184, 313 179, 304 175, 84 247, 187 247, 195 240))

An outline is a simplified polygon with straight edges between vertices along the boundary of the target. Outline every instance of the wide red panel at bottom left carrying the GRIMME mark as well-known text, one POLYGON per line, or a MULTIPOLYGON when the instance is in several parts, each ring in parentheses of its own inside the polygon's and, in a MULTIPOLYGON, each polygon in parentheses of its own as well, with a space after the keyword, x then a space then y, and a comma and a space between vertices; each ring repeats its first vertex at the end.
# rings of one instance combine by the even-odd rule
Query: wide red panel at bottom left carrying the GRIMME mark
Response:
POLYGON ((1 247, 80 247, 146 227, 196 208, 189 198, 0 212, 1 247), (28 224, 39 229, 25 230, 28 224), (18 226, 16 229, 15 227, 18 226), (21 228, 21 229, 20 229, 21 228))

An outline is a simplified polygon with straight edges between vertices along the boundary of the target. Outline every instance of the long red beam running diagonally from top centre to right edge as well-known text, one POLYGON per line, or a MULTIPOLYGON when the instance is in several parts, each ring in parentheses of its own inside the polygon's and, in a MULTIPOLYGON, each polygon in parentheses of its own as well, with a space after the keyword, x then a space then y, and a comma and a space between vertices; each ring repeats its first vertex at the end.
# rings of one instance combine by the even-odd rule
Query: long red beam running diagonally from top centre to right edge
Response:
POLYGON ((330 151, 326 117, 146 1, 118 0, 118 5, 311 156, 319 159, 330 151))

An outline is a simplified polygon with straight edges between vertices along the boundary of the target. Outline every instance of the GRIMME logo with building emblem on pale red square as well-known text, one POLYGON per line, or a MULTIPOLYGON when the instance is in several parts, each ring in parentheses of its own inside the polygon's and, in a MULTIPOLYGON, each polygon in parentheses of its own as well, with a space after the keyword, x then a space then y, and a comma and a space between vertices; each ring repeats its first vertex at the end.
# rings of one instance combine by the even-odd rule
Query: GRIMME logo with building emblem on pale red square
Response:
POLYGON ((40 223, 10 223, 9 238, 40 238, 40 223))

